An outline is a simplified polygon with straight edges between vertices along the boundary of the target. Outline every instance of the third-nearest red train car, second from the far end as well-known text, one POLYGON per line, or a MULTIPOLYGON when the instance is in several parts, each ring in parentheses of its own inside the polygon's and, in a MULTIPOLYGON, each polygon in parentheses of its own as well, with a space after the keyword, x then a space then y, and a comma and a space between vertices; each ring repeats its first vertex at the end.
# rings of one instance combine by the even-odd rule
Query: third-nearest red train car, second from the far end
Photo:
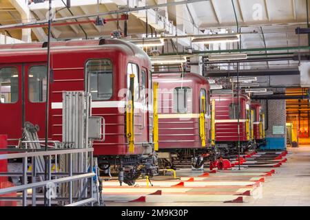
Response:
POLYGON ((239 98, 233 94, 212 94, 211 103, 212 108, 215 109, 215 142, 221 154, 227 155, 238 152, 239 141, 241 152, 252 147, 251 102, 249 97, 244 94, 240 94, 239 98))

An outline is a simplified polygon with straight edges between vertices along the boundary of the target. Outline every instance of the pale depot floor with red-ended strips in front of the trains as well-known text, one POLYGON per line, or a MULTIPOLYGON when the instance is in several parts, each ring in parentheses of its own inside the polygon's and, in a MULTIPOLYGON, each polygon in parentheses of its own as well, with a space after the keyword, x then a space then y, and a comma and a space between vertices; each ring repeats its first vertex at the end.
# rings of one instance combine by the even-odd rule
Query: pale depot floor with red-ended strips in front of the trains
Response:
POLYGON ((176 179, 168 171, 169 175, 154 177, 152 185, 138 179, 135 186, 119 186, 112 179, 103 181, 103 199, 107 206, 308 206, 310 177, 302 174, 309 168, 305 163, 309 157, 307 147, 289 148, 288 153, 245 157, 240 170, 231 159, 236 164, 231 170, 195 173, 181 168, 176 179), (283 182, 285 186, 279 188, 283 182))

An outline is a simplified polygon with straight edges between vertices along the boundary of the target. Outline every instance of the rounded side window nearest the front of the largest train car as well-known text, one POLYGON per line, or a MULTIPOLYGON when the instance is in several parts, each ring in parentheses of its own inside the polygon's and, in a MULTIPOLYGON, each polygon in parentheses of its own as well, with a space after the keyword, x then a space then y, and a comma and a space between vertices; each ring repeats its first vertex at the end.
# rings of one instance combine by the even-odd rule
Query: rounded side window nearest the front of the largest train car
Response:
POLYGON ((109 100, 113 91, 112 62, 109 59, 87 61, 86 73, 92 100, 109 100))

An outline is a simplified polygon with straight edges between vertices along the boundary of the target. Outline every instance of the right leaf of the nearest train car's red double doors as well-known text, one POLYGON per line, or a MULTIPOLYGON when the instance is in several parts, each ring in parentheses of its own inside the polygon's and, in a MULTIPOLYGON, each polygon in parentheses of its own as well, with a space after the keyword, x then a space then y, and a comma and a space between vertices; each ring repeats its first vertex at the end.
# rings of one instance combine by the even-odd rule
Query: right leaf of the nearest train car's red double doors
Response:
POLYGON ((45 137, 46 73, 44 64, 26 64, 24 69, 25 122, 39 125, 38 135, 45 137))

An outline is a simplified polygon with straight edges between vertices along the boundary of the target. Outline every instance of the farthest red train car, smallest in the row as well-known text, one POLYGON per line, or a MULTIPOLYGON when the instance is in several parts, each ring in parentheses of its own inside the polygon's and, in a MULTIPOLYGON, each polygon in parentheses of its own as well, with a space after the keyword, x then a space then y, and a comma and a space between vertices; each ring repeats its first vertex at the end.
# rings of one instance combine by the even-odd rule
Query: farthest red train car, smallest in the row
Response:
POLYGON ((251 102, 251 110, 254 115, 254 139, 258 146, 265 143, 265 115, 262 113, 260 102, 251 102))

